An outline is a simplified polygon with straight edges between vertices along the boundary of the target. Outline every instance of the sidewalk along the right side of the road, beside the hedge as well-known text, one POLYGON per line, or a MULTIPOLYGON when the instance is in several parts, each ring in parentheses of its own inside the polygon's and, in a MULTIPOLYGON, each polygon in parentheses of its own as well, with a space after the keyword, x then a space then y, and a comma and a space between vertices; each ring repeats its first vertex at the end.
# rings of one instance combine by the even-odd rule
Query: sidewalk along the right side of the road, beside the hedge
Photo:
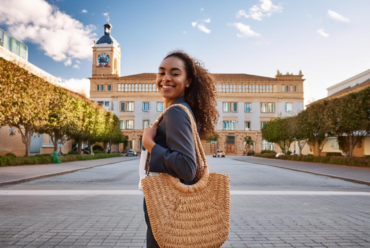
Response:
MULTIPOLYGON (((231 158, 231 157, 229 157, 231 158)), ((289 170, 308 172, 326 177, 353 181, 359 184, 370 185, 370 168, 337 166, 327 163, 309 163, 301 161, 287 161, 282 159, 265 159, 261 157, 238 156, 232 159, 249 163, 257 163, 264 166, 274 166, 289 170)))

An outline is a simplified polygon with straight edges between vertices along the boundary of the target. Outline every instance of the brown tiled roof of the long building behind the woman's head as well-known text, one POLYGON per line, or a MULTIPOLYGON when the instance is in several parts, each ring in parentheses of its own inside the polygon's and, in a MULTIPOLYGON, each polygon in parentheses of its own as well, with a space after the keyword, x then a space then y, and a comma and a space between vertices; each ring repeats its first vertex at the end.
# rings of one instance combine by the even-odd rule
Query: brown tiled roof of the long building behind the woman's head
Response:
MULTIPOLYGON (((276 78, 267 78, 249 74, 216 73, 212 74, 217 82, 228 81, 275 81, 276 78)), ((119 80, 155 80, 155 73, 140 73, 136 75, 120 77, 119 80)))

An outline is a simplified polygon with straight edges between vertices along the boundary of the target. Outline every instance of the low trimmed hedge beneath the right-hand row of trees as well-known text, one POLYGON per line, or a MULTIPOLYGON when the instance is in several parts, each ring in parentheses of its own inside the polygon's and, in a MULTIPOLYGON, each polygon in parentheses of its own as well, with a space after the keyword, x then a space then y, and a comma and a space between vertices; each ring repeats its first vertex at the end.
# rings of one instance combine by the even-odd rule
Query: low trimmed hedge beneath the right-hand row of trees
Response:
POLYGON ((267 159, 283 159, 290 161, 303 161, 313 163, 330 163, 339 166, 356 166, 356 167, 370 167, 369 158, 352 158, 348 159, 342 156, 330 156, 330 157, 313 157, 313 156, 292 156, 292 155, 280 155, 278 158, 272 156, 271 153, 255 154, 254 157, 264 157, 267 159))

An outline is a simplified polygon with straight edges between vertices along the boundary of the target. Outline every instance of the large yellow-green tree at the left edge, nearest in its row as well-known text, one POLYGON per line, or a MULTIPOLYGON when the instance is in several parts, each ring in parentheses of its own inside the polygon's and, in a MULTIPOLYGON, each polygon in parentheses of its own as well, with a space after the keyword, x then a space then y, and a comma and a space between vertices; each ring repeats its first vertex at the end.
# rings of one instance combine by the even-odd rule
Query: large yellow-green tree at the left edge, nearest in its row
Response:
POLYGON ((31 152, 31 136, 49 116, 51 84, 0 57, 0 126, 16 127, 31 152))

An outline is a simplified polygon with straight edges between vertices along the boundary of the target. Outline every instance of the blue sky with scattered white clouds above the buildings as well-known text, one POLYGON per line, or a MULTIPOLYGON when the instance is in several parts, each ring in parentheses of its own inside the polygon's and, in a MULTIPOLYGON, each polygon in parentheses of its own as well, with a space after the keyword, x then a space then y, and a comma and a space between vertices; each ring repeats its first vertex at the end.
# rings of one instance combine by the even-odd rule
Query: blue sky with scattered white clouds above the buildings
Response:
POLYGON ((121 76, 155 73, 180 48, 210 73, 301 70, 308 104, 370 69, 369 0, 0 0, 0 28, 28 46, 28 62, 88 95, 108 8, 121 76))

